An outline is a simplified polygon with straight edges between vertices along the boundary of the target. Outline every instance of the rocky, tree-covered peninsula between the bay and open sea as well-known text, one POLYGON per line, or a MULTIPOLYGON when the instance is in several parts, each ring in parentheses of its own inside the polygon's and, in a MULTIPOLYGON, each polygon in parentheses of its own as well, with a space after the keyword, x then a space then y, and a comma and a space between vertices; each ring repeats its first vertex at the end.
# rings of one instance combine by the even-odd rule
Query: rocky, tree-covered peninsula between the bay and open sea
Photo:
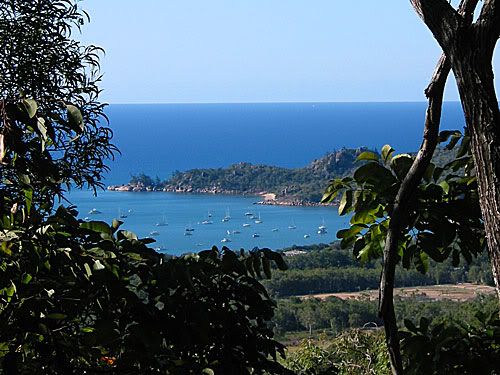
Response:
POLYGON ((139 174, 132 176, 128 184, 109 186, 108 190, 262 195, 263 203, 268 204, 315 205, 328 181, 351 175, 358 166, 356 157, 366 150, 342 148, 302 168, 241 162, 227 168, 175 172, 165 181, 139 174))

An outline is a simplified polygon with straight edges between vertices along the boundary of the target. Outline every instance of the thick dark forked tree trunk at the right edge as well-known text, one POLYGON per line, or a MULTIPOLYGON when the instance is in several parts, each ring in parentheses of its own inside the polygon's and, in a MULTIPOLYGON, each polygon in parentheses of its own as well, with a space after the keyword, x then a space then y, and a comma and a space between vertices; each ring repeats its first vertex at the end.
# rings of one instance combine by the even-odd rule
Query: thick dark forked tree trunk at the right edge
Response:
POLYGON ((484 0, 478 20, 465 25, 446 0, 411 0, 455 75, 470 130, 493 279, 500 302, 500 112, 492 58, 500 35, 500 0, 484 0))

